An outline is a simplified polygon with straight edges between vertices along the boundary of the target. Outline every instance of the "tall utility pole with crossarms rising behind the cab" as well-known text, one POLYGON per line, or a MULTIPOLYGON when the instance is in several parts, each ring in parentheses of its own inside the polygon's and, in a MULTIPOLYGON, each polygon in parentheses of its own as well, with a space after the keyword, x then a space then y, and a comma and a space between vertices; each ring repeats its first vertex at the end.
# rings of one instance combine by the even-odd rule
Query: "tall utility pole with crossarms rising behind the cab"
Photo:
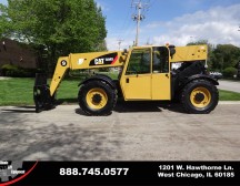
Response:
POLYGON ((133 21, 137 21, 137 34, 136 34, 134 45, 138 45, 140 21, 142 21, 144 19, 144 16, 141 14, 141 10, 149 8, 149 4, 142 3, 141 0, 139 0, 138 2, 133 2, 133 0, 132 0, 131 7, 133 7, 133 6, 136 7, 136 9, 138 11, 137 14, 132 16, 133 21))

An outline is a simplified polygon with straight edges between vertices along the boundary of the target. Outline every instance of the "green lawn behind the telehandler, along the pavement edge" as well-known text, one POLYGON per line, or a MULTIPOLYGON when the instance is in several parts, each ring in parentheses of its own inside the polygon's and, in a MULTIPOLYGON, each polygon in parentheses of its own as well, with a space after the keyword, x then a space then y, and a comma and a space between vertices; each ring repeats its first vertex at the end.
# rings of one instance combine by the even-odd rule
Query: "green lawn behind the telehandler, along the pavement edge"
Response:
MULTIPOLYGON (((116 78, 112 74, 112 78, 116 78)), ((63 80, 57 99, 66 103, 77 103, 80 80, 63 80)), ((34 79, 0 80, 0 105, 33 105, 34 79)), ((240 101, 240 93, 219 90, 220 101, 240 101)))

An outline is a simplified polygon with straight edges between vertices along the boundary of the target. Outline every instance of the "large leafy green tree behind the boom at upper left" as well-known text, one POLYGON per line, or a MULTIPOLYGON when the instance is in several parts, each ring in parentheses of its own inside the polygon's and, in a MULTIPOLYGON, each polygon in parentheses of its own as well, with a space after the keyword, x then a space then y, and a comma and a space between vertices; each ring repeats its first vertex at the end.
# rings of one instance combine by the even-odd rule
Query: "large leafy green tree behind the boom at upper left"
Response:
POLYGON ((94 0, 8 0, 0 35, 42 45, 53 70, 59 55, 103 50, 106 18, 94 0))

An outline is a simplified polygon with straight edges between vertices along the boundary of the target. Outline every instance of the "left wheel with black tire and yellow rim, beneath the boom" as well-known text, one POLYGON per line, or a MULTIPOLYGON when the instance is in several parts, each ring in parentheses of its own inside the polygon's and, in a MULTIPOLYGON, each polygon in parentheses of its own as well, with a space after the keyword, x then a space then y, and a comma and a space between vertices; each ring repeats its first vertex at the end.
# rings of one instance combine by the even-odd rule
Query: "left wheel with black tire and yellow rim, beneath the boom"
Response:
POLYGON ((117 93, 103 81, 90 81, 79 90, 79 105, 88 115, 109 115, 116 106, 117 93))

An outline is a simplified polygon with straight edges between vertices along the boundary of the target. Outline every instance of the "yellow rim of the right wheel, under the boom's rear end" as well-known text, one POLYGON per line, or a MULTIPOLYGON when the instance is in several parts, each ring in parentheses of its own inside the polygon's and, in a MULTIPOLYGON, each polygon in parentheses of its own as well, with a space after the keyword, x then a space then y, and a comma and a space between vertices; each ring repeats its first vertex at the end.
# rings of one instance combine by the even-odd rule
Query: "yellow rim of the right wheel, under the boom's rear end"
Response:
POLYGON ((190 94, 192 105, 199 108, 208 106, 211 102, 211 93, 206 87, 196 87, 190 94))

